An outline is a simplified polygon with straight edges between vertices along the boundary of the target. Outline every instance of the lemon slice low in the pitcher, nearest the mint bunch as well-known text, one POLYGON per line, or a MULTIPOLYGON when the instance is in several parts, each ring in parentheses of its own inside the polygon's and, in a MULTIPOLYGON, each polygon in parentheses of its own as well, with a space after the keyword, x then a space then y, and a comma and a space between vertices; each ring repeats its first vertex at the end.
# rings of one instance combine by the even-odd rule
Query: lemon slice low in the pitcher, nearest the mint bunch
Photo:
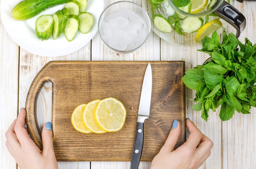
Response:
POLYGON ((211 35, 214 31, 222 27, 222 22, 219 19, 211 20, 198 29, 195 34, 195 42, 201 42, 205 36, 211 35))

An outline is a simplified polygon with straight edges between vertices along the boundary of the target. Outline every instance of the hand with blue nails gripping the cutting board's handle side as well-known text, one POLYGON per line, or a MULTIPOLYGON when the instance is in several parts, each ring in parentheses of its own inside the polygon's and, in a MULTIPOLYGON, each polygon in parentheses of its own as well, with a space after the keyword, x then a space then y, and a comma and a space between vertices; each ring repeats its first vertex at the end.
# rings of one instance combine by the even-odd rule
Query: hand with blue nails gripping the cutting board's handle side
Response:
POLYGON ((21 109, 18 118, 13 121, 5 137, 7 149, 16 160, 20 169, 58 169, 52 142, 52 124, 43 126, 43 151, 29 138, 25 125, 25 109, 21 109))

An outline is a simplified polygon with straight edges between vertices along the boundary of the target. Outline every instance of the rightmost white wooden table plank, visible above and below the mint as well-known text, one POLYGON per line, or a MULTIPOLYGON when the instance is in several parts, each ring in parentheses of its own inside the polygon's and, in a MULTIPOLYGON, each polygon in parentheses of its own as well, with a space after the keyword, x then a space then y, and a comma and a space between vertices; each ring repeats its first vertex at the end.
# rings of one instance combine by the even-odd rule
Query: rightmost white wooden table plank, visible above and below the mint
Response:
MULTIPOLYGON (((252 44, 256 43, 255 2, 239 3, 236 7, 246 17, 247 25, 239 40, 245 42, 247 37, 252 44)), ((234 33, 234 28, 228 27, 234 33)), ((251 108, 251 114, 235 112, 231 120, 222 123, 222 161, 223 169, 253 169, 256 166, 256 108, 251 108)))

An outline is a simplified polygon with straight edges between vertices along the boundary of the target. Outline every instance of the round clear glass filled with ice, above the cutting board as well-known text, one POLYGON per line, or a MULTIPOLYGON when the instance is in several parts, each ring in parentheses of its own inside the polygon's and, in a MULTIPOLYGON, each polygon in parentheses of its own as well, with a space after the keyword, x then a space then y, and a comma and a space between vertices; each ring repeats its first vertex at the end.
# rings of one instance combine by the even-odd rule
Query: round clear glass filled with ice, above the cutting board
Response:
POLYGON ((103 42, 119 53, 139 49, 151 30, 146 11, 130 1, 110 4, 101 14, 98 27, 103 42))

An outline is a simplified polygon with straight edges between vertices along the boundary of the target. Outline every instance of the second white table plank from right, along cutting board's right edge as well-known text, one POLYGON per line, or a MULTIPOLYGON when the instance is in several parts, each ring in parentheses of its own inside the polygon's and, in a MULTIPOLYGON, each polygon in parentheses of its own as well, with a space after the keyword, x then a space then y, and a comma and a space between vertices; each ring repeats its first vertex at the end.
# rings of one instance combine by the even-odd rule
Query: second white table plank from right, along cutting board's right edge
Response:
MULTIPOLYGON (((197 51, 201 49, 201 45, 197 46, 178 46, 176 44, 168 43, 161 40, 161 60, 184 60, 185 70, 191 69, 198 64, 203 64, 204 60, 210 56, 207 53, 197 51)), ((194 99, 195 91, 186 88, 186 117, 191 119, 195 125, 208 136, 214 143, 211 150, 211 156, 204 162, 204 165, 200 167, 209 169, 220 169, 222 167, 222 122, 217 112, 209 112, 209 120, 205 122, 201 118, 201 112, 193 111, 192 106, 195 104, 190 99, 194 99)), ((189 132, 187 132, 187 136, 189 132)))

